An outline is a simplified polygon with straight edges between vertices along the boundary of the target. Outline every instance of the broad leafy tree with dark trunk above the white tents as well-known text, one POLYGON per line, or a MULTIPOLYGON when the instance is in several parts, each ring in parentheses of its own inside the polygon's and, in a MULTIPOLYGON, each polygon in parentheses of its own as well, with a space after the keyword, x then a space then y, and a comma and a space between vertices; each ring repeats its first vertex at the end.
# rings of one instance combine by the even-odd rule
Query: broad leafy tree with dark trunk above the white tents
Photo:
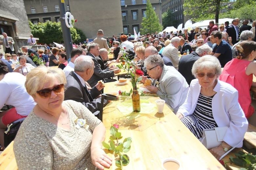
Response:
POLYGON ((198 22, 215 17, 215 22, 219 22, 221 9, 227 8, 229 0, 184 0, 184 15, 192 16, 191 20, 198 22))

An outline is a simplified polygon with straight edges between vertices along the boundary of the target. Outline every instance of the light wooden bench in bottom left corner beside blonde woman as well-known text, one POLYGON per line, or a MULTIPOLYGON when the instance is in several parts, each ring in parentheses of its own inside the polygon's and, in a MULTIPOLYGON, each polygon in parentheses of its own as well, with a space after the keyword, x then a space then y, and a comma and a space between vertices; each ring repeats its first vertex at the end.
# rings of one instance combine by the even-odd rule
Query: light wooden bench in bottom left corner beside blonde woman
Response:
POLYGON ((0 169, 1 170, 17 170, 17 163, 13 153, 13 141, 0 155, 0 169))

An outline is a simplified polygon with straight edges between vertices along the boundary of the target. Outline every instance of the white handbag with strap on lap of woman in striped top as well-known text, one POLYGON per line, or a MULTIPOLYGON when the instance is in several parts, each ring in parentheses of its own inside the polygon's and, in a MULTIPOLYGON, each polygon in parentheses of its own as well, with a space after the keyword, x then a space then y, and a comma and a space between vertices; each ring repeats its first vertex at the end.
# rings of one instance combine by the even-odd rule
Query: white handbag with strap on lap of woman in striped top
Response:
MULTIPOLYGON (((223 142, 223 138, 225 136, 225 133, 227 131, 228 127, 214 127, 212 129, 203 129, 203 138, 202 138, 202 144, 207 148, 211 149, 213 147, 217 147, 221 145, 223 142)), ((236 145, 237 146, 237 145, 236 145)), ((231 152, 235 147, 230 148, 224 155, 221 156, 219 160, 224 158, 229 152, 231 152)))

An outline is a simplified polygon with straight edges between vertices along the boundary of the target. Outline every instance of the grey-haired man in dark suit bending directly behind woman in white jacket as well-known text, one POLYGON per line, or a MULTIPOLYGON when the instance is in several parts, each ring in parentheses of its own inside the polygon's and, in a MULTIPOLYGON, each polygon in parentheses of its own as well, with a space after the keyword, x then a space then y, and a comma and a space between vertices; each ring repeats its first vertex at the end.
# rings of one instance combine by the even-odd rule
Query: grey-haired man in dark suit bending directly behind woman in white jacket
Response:
POLYGON ((200 57, 210 54, 211 51, 211 47, 205 44, 198 47, 196 51, 192 51, 192 53, 181 57, 179 61, 178 71, 183 77, 185 77, 188 85, 190 85, 190 82, 195 79, 191 72, 194 62, 200 57))

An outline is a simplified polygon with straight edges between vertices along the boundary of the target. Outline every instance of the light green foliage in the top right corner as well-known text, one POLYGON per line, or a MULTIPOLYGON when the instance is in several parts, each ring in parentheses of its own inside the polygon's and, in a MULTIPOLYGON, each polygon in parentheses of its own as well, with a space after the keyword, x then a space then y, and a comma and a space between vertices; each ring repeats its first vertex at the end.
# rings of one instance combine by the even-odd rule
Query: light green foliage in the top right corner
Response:
POLYGON ((255 0, 237 0, 233 9, 220 14, 221 18, 239 18, 240 20, 256 20, 255 0))

